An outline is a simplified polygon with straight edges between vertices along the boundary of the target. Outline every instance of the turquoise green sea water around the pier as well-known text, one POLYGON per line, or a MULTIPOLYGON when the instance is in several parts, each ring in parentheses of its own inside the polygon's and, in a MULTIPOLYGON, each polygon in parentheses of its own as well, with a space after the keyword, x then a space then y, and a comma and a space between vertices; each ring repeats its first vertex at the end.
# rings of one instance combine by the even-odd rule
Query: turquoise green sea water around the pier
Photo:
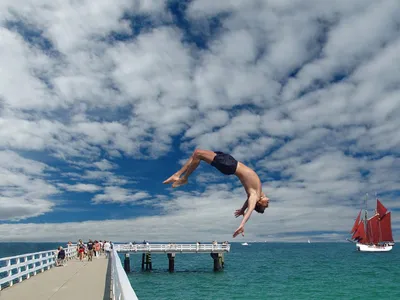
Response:
MULTIPOLYGON (((59 244, 0 243, 0 257, 59 244)), ((400 299, 396 246, 360 253, 350 243, 233 243, 221 272, 209 254, 177 254, 174 273, 166 254, 152 255, 152 271, 142 271, 141 254, 131 254, 129 279, 140 300, 400 299)))

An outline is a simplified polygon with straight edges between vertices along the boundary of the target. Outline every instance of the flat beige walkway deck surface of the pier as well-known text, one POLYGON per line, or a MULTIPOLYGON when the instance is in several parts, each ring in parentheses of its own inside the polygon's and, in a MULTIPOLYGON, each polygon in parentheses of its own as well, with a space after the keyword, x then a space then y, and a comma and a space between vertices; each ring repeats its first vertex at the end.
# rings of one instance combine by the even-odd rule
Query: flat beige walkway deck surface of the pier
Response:
POLYGON ((109 260, 69 260, 56 267, 0 291, 1 300, 101 300, 110 299, 109 260))

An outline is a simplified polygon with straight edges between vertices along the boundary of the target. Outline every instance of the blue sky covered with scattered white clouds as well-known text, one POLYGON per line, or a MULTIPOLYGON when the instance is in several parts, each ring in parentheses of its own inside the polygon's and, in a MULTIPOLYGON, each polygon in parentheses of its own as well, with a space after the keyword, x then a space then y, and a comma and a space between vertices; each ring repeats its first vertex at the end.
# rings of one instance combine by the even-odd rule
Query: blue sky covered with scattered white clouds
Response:
POLYGON ((344 241, 365 193, 400 236, 398 1, 0 4, 0 240, 344 241))

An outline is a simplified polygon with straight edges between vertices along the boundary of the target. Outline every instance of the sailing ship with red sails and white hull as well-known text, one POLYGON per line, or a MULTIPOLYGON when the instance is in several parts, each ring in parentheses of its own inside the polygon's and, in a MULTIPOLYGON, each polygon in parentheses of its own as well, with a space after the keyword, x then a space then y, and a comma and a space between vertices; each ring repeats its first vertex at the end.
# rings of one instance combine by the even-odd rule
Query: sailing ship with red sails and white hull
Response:
POLYGON ((349 241, 356 244, 358 251, 386 252, 393 248, 391 214, 376 199, 375 214, 368 219, 368 211, 361 209, 350 232, 349 241))

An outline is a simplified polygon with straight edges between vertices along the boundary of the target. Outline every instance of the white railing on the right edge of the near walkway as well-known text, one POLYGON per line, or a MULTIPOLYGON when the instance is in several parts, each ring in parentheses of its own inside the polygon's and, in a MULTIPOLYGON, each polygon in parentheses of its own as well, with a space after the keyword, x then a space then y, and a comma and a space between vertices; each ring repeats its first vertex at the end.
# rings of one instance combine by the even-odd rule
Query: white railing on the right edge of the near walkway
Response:
POLYGON ((112 300, 138 300, 115 248, 111 251, 112 300))

